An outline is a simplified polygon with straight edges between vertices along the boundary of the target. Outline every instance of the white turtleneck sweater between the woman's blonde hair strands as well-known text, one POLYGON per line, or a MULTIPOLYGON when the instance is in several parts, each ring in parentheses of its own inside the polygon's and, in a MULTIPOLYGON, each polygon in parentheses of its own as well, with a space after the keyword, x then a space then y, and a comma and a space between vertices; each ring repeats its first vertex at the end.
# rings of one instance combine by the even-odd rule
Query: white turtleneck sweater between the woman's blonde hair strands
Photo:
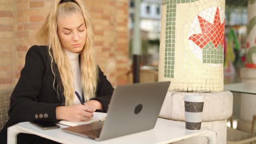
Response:
MULTIPOLYGON (((79 65, 79 53, 73 53, 65 49, 66 55, 69 59, 69 63, 71 65, 71 70, 74 77, 74 91, 77 91, 82 97, 82 88, 81 88, 81 73, 80 73, 80 65, 79 65)), ((81 98, 82 99, 82 98, 81 98)), ((81 104, 77 95, 74 93, 74 104, 81 104)))

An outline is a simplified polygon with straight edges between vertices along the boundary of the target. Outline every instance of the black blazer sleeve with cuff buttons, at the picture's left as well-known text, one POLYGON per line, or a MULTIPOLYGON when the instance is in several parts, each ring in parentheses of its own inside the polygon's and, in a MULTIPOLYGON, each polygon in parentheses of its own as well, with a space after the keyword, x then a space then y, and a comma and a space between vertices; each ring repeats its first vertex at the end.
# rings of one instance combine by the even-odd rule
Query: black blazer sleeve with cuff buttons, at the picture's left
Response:
POLYGON ((37 98, 46 65, 43 52, 42 47, 32 46, 26 54, 25 66, 10 98, 9 116, 14 122, 57 121, 56 106, 59 104, 42 103, 37 98))

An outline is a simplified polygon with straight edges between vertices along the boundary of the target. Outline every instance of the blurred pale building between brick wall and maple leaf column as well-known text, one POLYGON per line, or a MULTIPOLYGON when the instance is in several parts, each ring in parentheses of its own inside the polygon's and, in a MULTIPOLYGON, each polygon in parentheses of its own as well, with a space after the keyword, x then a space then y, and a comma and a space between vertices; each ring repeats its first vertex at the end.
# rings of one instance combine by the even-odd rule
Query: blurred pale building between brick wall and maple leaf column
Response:
MULTIPOLYGON (((159 60, 160 25, 161 25, 161 0, 143 0, 140 8, 140 29, 142 43, 142 64, 155 65, 159 60)), ((132 53, 132 38, 135 16, 135 0, 130 0, 129 31, 130 31, 130 56, 132 53)))

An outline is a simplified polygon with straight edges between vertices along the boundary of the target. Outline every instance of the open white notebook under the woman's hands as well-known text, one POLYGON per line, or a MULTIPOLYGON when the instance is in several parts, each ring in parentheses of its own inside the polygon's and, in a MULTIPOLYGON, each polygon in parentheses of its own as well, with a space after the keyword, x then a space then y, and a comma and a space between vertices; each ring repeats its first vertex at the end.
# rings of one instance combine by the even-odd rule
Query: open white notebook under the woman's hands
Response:
POLYGON ((93 123, 93 122, 105 121, 106 117, 107 117, 107 113, 94 112, 94 116, 89 121, 70 122, 70 121, 62 120, 59 122, 59 124, 68 125, 68 126, 73 127, 73 126, 82 125, 82 124, 89 124, 89 123, 93 123))

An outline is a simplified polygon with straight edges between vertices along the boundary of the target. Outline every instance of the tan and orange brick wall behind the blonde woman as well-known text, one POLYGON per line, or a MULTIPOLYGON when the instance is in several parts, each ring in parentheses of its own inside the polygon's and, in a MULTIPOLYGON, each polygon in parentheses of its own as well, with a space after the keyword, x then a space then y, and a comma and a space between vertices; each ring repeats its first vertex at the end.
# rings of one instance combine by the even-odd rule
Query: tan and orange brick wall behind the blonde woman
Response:
MULTIPOLYGON (((129 2, 84 0, 92 17, 97 63, 112 85, 127 83, 129 2)), ((0 89, 14 87, 27 50, 48 14, 51 1, 0 0, 0 89)))

